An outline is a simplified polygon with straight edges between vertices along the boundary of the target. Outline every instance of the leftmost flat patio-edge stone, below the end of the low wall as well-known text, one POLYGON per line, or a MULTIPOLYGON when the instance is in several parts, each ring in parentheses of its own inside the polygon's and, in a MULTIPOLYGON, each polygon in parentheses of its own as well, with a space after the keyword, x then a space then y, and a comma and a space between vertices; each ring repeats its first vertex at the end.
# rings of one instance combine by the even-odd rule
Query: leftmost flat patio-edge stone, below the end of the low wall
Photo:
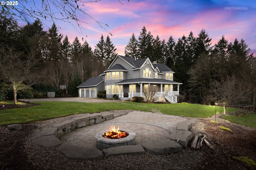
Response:
POLYGON ((62 142, 54 135, 42 136, 33 140, 32 143, 44 146, 45 148, 53 148, 62 144, 62 142))

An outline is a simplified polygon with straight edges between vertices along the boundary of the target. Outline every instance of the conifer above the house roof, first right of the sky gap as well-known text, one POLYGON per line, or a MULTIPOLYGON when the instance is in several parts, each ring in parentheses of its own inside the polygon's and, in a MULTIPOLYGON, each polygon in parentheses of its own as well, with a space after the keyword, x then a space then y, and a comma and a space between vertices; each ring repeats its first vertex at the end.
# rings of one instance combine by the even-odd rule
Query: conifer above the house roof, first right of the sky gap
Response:
POLYGON ((136 58, 139 56, 138 40, 135 38, 134 33, 126 47, 124 47, 124 53, 126 57, 136 58))

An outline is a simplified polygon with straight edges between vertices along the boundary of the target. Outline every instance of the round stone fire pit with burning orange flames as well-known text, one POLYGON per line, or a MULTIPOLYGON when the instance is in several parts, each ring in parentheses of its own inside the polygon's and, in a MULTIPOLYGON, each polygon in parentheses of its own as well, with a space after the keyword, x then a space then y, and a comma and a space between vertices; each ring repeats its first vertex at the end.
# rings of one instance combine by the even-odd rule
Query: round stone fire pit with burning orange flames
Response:
POLYGON ((135 145, 135 132, 131 130, 119 130, 119 127, 112 126, 109 130, 98 132, 96 147, 100 150, 125 145, 135 145))

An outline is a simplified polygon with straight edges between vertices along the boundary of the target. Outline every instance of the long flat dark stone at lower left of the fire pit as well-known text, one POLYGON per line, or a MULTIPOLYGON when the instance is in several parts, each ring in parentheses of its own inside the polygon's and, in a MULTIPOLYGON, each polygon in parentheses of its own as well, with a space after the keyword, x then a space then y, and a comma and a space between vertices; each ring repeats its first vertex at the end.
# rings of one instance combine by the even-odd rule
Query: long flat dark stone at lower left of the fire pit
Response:
POLYGON ((101 160, 104 157, 104 154, 99 149, 84 148, 71 144, 60 145, 58 147, 58 151, 62 152, 66 157, 72 159, 101 160))

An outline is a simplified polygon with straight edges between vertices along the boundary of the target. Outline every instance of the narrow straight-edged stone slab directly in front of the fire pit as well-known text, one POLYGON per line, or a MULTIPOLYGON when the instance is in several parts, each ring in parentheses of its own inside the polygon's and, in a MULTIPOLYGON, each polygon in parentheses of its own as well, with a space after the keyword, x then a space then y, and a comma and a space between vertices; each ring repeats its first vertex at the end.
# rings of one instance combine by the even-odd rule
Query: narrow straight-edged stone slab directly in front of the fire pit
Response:
POLYGON ((118 156, 118 155, 139 155, 144 154, 145 150, 141 144, 137 145, 126 145, 106 148, 102 150, 105 157, 118 156))

